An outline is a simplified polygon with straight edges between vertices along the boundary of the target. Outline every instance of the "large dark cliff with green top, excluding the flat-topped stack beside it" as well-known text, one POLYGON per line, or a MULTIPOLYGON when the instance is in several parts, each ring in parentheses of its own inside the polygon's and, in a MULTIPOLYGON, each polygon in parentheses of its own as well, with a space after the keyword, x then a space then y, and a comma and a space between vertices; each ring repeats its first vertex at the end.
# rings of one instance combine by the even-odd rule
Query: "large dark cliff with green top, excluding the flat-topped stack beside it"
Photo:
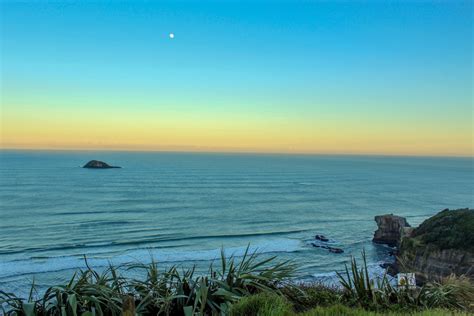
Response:
POLYGON ((424 221, 402 238, 397 262, 420 283, 450 274, 474 279, 474 210, 444 210, 424 221))

